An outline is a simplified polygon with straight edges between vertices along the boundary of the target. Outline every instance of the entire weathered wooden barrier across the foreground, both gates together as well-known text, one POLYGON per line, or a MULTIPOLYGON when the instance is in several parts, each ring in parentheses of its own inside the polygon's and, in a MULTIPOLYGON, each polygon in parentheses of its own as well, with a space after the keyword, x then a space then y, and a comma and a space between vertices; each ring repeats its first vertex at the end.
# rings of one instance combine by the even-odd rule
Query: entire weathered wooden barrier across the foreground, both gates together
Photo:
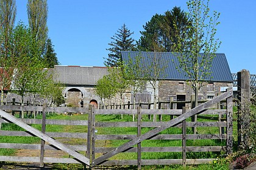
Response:
POLYGON ((193 158, 188 159, 188 152, 216 152, 223 151, 226 154, 232 152, 232 89, 222 94, 213 100, 209 100, 194 109, 182 110, 177 109, 94 109, 92 106, 87 110, 85 108, 76 107, 35 107, 35 106, 1 106, 2 110, 27 110, 27 111, 42 111, 43 115, 46 112, 83 112, 88 113, 88 120, 80 121, 68 121, 68 120, 48 120, 43 116, 42 120, 38 119, 18 119, 6 112, 0 111, 2 117, 2 123, 15 123, 26 129, 26 131, 1 131, 1 135, 7 136, 37 136, 41 138, 41 144, 13 144, 13 143, 0 143, 0 148, 13 148, 13 149, 40 149, 40 155, 38 157, 10 157, 0 156, 0 161, 32 161, 40 162, 41 166, 43 163, 59 162, 59 163, 83 163, 93 168, 99 165, 138 165, 138 169, 141 165, 172 165, 172 164, 199 164, 208 163, 213 161, 213 158, 193 158), (214 104, 219 103, 222 100, 226 100, 226 109, 211 109, 214 104), (98 121, 99 115, 133 115, 137 114, 137 122, 129 121, 98 121), (172 118, 169 121, 143 121, 143 115, 169 115, 172 118), (190 121, 189 118, 194 115, 202 116, 207 121, 190 121), (217 117, 224 117, 225 120, 219 120, 217 117), (212 119, 209 121, 208 119, 212 119), (22 123, 21 123, 22 122, 22 123), (31 126, 27 127, 26 124, 42 124, 40 131, 35 131, 31 126), (87 128, 87 133, 63 133, 63 132, 48 132, 44 129, 46 124, 62 124, 62 125, 80 125, 87 128), (104 128, 107 127, 120 127, 126 129, 127 127, 137 128, 135 134, 105 134, 104 128), (144 134, 141 133, 141 128, 150 127, 151 131, 144 134), (219 131, 213 134, 187 134, 187 127, 209 127, 209 128, 225 128, 226 131, 219 131), (161 134, 162 131, 168 128, 180 128, 182 129, 181 134, 161 134), (98 130, 101 130, 99 133, 98 130), (54 140, 54 138, 67 137, 67 138, 84 138, 87 143, 86 145, 70 145, 60 143, 60 141, 54 140), (226 144, 220 144, 219 146, 187 146, 188 140, 223 140, 226 144), (127 140, 126 143, 116 148, 110 148, 107 146, 98 145, 99 141, 112 141, 112 140, 127 140), (165 146, 165 147, 143 147, 141 142, 144 140, 154 140, 162 143, 163 140, 181 140, 181 146, 165 146), (47 141, 49 144, 46 144, 47 141), (137 145, 137 147, 135 147, 137 145), (44 157, 44 150, 46 149, 61 149, 72 155, 74 158, 49 158, 44 157), (79 154, 77 151, 86 151, 86 156, 79 154), (121 152, 135 152, 137 159, 115 159, 113 156, 121 152), (143 152, 182 152, 182 158, 155 158, 155 159, 143 159, 141 153, 143 152))

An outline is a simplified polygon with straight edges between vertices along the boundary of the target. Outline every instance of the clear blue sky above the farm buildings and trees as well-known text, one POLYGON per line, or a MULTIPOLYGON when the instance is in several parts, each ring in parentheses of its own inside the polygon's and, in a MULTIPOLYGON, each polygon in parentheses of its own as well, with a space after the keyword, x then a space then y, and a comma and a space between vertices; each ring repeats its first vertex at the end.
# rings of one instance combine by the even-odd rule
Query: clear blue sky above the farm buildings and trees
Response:
MULTIPOLYGON (((187 11, 185 0, 48 0, 48 29, 62 65, 104 66, 111 37, 125 23, 138 40, 143 25, 155 13, 173 7, 187 11)), ((16 0, 16 22, 27 24, 26 0, 16 0)), ((221 13, 216 38, 222 41, 232 73, 247 69, 256 74, 256 1, 211 0, 210 9, 221 13)))

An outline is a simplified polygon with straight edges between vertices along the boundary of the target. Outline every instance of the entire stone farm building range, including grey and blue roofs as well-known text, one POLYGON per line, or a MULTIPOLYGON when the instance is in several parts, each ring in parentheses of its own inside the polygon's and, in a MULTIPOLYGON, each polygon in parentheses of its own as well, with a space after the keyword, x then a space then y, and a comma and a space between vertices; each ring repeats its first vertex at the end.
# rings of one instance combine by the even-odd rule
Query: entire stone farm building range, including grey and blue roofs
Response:
MULTIPOLYGON (((154 52, 122 52, 122 58, 127 61, 128 58, 135 58, 141 55, 142 58, 151 58, 154 52)), ((172 53, 158 53, 167 63, 165 76, 159 77, 157 81, 158 87, 155 90, 157 98, 162 101, 169 101, 170 98, 177 101, 190 100, 193 95, 193 89, 187 82, 188 78, 185 73, 176 69, 177 58, 172 53), (170 60, 171 59, 171 60, 170 60)), ((147 59, 148 60, 148 59, 147 59)), ((54 66, 54 72, 57 75, 57 81, 65 84, 63 96, 65 104, 76 107, 88 107, 88 104, 94 104, 98 107, 101 99, 94 94, 94 87, 97 81, 104 75, 107 75, 107 67, 83 67, 83 66, 54 66), (82 101, 82 105, 81 105, 82 101)), ((221 89, 233 86, 232 74, 227 63, 224 53, 216 53, 216 57, 212 63, 211 78, 203 83, 199 90, 199 100, 210 100, 219 94, 221 89)), ((154 100, 154 90, 150 83, 146 83, 136 95, 136 102, 151 102, 154 100)), ((112 102, 118 103, 118 97, 112 102)), ((127 92, 124 97, 124 103, 133 102, 133 94, 127 92)), ((182 104, 177 105, 177 109, 182 108, 182 104)))

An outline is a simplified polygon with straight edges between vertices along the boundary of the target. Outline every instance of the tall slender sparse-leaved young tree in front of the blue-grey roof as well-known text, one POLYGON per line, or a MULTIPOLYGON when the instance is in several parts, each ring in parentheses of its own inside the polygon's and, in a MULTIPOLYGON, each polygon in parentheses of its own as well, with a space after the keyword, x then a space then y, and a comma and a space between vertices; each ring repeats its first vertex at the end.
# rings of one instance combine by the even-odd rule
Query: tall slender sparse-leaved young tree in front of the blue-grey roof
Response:
POLYGON ((187 36, 178 37, 180 42, 185 43, 183 46, 176 44, 175 51, 180 53, 174 55, 179 60, 177 69, 185 72, 189 78, 197 106, 198 91, 202 82, 210 79, 212 61, 221 44, 219 39, 215 39, 220 13, 214 11, 213 16, 210 16, 209 0, 206 3, 204 0, 190 0, 187 5, 187 17, 191 24, 187 25, 187 36))

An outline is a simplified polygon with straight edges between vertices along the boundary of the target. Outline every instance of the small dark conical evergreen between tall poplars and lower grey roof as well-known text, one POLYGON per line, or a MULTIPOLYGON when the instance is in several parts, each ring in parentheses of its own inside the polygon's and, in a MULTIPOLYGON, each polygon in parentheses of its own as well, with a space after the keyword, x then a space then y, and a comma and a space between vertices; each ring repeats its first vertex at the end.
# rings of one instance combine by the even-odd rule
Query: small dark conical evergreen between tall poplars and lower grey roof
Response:
POLYGON ((46 52, 43 55, 43 61, 47 68, 53 68, 54 65, 58 65, 59 61, 57 58, 57 54, 54 52, 54 45, 52 45, 52 41, 50 38, 47 39, 46 42, 46 52))

